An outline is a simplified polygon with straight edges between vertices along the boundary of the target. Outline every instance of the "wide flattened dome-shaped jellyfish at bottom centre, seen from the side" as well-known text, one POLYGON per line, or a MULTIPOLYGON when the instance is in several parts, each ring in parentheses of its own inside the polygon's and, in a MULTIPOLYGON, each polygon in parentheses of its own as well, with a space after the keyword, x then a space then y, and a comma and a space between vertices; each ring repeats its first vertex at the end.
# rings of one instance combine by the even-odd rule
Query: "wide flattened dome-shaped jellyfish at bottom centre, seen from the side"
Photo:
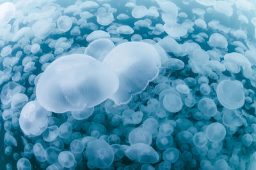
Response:
POLYGON ((136 162, 143 164, 154 164, 159 160, 159 155, 149 145, 136 143, 125 150, 125 155, 136 162))

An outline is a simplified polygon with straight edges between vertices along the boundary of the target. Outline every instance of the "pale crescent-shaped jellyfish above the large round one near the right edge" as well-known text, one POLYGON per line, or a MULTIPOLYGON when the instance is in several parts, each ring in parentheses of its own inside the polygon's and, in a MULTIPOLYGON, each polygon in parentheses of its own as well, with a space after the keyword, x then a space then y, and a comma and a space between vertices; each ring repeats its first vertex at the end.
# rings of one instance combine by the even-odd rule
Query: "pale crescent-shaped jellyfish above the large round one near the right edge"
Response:
POLYGON ((236 52, 227 53, 224 55, 224 59, 228 62, 232 62, 238 66, 241 66, 243 68, 243 75, 246 78, 250 78, 250 76, 252 76, 251 63, 246 57, 244 57, 243 54, 236 52))

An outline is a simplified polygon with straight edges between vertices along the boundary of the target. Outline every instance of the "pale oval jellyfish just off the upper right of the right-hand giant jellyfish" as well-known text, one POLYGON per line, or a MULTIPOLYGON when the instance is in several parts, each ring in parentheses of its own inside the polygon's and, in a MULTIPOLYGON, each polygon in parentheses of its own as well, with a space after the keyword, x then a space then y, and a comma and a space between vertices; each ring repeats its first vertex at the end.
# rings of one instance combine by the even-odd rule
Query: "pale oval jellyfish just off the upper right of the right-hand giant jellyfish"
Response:
POLYGON ((180 53, 181 47, 177 41, 173 38, 163 38, 160 39, 157 43, 161 47, 164 48, 166 52, 172 52, 172 53, 180 53))

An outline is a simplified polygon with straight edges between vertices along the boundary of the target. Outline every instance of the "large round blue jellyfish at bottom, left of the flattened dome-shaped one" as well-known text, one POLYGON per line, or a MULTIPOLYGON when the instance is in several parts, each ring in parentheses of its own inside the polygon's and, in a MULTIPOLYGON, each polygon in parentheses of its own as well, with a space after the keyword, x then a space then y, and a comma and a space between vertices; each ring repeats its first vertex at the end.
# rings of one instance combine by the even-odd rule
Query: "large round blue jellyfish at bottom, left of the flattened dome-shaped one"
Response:
POLYGON ((113 148, 103 140, 90 141, 86 148, 86 157, 92 166, 106 168, 111 166, 114 160, 113 148))

